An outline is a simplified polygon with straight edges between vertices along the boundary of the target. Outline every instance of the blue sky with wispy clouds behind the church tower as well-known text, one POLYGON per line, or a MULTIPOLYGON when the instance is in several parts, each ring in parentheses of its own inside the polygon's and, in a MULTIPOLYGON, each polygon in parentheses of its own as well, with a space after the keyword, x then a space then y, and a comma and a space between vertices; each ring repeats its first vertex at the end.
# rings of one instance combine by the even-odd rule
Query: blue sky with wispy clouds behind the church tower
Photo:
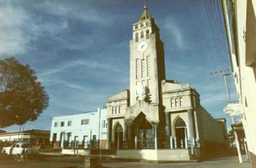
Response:
MULTIPOLYGON (((97 110, 108 96, 129 87, 129 41, 143 5, 142 0, 0 2, 0 58, 29 64, 50 96, 50 106, 25 130, 50 130, 52 116, 97 110)), ((190 83, 202 106, 213 117, 226 117, 230 128, 222 110, 223 77, 210 74, 230 69, 220 1, 148 0, 147 6, 164 42, 166 78, 190 83)), ((228 86, 236 101, 231 77, 228 86)))

